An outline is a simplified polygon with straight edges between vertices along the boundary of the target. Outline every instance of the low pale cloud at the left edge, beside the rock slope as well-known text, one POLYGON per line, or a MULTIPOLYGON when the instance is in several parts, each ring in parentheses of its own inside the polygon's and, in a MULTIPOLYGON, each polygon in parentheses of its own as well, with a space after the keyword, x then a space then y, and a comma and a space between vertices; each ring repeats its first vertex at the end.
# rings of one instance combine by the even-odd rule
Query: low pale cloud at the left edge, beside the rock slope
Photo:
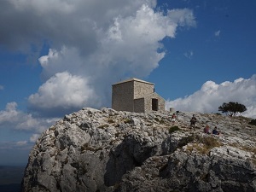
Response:
POLYGON ((41 133, 57 119, 37 119, 32 114, 17 109, 16 102, 9 102, 5 110, 0 111, 0 129, 8 126, 19 131, 33 131, 41 133))

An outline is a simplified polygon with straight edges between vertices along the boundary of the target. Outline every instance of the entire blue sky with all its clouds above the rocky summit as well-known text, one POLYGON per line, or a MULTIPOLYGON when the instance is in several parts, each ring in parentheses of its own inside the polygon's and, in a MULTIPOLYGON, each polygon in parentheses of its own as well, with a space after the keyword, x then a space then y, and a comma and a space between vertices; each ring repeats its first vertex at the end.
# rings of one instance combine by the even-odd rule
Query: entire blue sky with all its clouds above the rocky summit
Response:
POLYGON ((26 165, 40 134, 112 84, 155 84, 166 110, 256 119, 256 1, 2 0, 0 165, 26 165))

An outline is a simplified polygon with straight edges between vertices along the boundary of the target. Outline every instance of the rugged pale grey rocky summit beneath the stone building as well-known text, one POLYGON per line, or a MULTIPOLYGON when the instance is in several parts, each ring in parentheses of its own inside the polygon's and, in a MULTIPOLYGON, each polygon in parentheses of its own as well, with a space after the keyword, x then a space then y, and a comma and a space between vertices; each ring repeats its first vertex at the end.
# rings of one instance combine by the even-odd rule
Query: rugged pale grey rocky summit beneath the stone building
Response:
POLYGON ((22 191, 256 191, 256 126, 214 113, 83 108, 44 131, 22 191), (189 120, 195 114, 195 129, 189 120), (203 133, 209 125, 220 135, 203 133))

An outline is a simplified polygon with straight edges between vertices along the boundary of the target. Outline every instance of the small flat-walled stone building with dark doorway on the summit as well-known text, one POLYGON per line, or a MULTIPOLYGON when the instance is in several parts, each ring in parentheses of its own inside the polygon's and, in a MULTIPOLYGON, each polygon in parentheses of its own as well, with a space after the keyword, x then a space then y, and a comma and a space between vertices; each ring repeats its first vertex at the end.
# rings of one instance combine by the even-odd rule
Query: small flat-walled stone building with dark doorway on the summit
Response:
POLYGON ((164 111, 165 102, 154 92, 154 84, 141 79, 127 79, 112 85, 112 108, 117 111, 164 111))

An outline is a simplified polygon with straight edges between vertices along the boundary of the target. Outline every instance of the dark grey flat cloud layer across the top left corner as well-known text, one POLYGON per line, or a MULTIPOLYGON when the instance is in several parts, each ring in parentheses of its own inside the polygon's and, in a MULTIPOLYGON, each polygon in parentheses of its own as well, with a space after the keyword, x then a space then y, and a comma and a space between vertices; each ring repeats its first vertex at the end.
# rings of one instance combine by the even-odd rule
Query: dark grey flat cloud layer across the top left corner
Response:
POLYGON ((154 7, 156 1, 2 1, 0 42, 11 49, 32 54, 31 44, 40 46, 44 39, 55 49, 66 44, 79 47, 86 55, 97 47, 96 28, 105 30, 114 17, 133 15, 145 3, 154 7))

